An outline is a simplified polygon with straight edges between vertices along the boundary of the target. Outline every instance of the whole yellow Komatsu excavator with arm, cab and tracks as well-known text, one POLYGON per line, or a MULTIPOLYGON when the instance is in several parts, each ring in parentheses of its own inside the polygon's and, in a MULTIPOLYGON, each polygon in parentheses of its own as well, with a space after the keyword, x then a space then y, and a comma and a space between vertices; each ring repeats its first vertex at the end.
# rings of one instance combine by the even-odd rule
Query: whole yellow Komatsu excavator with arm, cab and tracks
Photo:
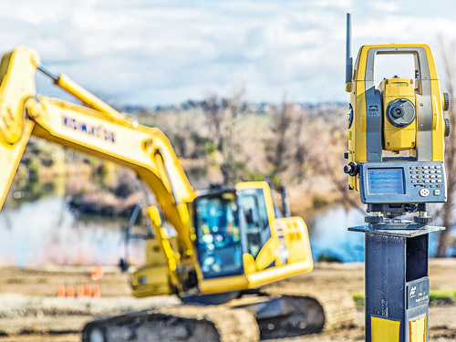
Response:
POLYGON ((0 65, 0 209, 32 135, 137 173, 158 205, 135 211, 149 231, 145 263, 130 267, 133 295, 175 294, 185 303, 96 320, 84 327, 83 341, 255 341, 350 324, 347 295, 274 286, 310 272, 313 262, 306 223, 276 217, 266 182, 195 192, 161 130, 125 117, 19 47, 0 65), (37 95, 36 70, 82 104, 37 95))

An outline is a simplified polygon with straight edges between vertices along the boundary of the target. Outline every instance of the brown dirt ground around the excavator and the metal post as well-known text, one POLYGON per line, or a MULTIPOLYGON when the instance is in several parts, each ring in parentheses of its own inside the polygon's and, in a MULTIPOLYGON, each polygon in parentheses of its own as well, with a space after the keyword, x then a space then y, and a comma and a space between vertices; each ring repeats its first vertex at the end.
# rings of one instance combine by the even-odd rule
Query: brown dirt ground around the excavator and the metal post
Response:
MULTIPOLYGON (((150 307, 178 306, 174 296, 133 298, 128 275, 104 269, 98 281, 88 267, 0 268, 0 342, 76 342, 82 326, 99 316, 112 316, 150 307), (100 298, 59 298, 58 285, 98 285, 100 298)), ((316 264, 315 270, 285 281, 287 286, 325 286, 325 290, 364 292, 364 264, 316 264)), ((430 260, 431 290, 456 289, 456 260, 430 260)), ((456 339, 456 306, 430 306, 430 340, 456 339)), ((364 311, 355 326, 282 341, 363 341, 364 311)))

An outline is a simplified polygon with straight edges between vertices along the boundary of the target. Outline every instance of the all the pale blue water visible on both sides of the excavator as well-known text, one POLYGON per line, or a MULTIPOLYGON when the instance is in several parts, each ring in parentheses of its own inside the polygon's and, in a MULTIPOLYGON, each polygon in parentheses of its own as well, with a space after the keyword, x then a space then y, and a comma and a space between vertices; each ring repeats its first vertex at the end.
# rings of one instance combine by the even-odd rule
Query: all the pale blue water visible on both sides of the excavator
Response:
MULTIPOLYGON (((312 255, 342 262, 364 261, 364 234, 347 227, 364 224, 365 213, 343 206, 309 212, 305 220, 312 255)), ((88 218, 70 212, 63 196, 5 206, 0 212, 0 264, 118 264, 123 256, 125 219, 88 218)), ((430 234, 430 255, 438 234, 430 234)))

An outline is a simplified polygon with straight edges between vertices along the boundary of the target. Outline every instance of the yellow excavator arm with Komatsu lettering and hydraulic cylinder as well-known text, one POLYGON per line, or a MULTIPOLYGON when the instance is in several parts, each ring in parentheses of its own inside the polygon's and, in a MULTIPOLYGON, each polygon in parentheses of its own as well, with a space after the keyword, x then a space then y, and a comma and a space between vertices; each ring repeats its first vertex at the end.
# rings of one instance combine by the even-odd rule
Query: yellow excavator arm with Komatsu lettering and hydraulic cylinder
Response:
MULTIPOLYGON (((171 285, 180 289, 182 279, 175 278, 176 269, 181 266, 188 273, 195 264, 189 213, 195 192, 161 130, 124 117, 67 76, 54 75, 29 48, 5 55, 0 77, 0 209, 31 135, 127 166, 149 186, 176 229, 179 252, 164 252, 171 285), (36 70, 85 106, 37 96, 36 70)), ((160 233, 160 227, 156 230, 160 233)))

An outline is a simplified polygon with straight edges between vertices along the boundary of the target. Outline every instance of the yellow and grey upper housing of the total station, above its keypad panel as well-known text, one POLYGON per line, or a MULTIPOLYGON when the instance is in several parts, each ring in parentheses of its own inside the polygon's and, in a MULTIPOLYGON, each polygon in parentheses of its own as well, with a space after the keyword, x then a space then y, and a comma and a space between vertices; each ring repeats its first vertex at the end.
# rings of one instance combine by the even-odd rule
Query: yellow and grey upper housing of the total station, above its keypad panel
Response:
POLYGON ((443 138, 450 133, 443 111, 449 108, 449 97, 440 92, 430 47, 366 45, 359 49, 353 67, 349 50, 347 44, 346 91, 350 93, 350 105, 345 171, 350 189, 359 191, 360 162, 443 161, 443 138), (374 67, 378 55, 412 55, 415 79, 394 76, 376 87, 374 67))

